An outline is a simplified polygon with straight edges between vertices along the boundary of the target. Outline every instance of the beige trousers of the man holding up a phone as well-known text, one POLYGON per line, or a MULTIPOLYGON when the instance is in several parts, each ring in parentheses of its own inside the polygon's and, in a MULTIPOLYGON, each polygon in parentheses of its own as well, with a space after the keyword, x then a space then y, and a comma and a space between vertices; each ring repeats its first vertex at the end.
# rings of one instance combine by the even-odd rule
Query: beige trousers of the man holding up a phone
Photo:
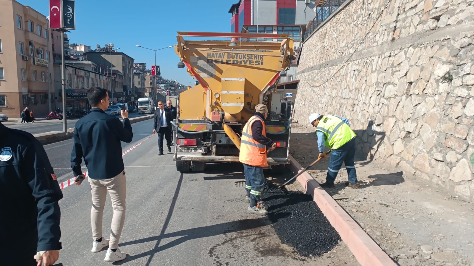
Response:
POLYGON ((118 248, 118 240, 120 239, 123 223, 125 222, 125 198, 127 194, 125 171, 122 171, 116 177, 108 179, 88 179, 92 194, 92 239, 97 240, 102 237, 102 216, 107 191, 109 191, 109 196, 112 200, 112 208, 114 210, 112 225, 110 226, 109 248, 118 248))

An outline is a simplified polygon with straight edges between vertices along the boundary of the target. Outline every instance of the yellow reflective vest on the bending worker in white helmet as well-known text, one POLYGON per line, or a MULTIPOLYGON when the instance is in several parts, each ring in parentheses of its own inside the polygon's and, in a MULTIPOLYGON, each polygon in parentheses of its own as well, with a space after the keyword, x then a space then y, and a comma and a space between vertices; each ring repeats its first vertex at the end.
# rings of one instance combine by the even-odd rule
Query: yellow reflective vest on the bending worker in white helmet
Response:
POLYGON ((356 137, 356 133, 340 118, 334 115, 323 116, 316 131, 326 136, 326 146, 331 149, 340 148, 356 137))

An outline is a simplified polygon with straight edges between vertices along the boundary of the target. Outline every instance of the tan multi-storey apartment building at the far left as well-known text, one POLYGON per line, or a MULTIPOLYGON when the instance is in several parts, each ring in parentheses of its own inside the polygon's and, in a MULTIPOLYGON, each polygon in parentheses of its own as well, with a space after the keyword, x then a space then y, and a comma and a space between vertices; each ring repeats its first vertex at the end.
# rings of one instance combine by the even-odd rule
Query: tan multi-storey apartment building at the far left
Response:
POLYGON ((0 113, 28 107, 46 116, 53 101, 52 43, 46 16, 15 0, 0 1, 0 113))

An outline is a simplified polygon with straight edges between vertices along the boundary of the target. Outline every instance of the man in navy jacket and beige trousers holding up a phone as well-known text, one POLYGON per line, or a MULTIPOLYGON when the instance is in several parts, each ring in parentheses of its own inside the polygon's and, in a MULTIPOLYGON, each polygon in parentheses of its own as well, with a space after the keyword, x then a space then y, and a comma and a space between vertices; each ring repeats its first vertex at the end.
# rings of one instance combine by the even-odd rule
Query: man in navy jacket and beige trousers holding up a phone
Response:
MULTIPOLYGON (((109 108, 109 95, 106 89, 91 88, 87 98, 92 108, 89 114, 76 122, 74 144, 71 153, 71 167, 75 180, 84 178, 81 170, 84 158, 89 183, 91 185, 92 208, 92 252, 99 252, 109 246, 105 261, 119 261, 126 254, 118 249, 118 241, 125 222, 126 177, 122 160, 122 142, 132 142, 132 126, 127 110, 122 110, 123 124, 114 115, 104 111, 109 108), (113 216, 110 239, 102 235, 102 215, 105 200, 109 192, 112 201, 113 216)), ((80 185, 80 182, 74 184, 80 185)))

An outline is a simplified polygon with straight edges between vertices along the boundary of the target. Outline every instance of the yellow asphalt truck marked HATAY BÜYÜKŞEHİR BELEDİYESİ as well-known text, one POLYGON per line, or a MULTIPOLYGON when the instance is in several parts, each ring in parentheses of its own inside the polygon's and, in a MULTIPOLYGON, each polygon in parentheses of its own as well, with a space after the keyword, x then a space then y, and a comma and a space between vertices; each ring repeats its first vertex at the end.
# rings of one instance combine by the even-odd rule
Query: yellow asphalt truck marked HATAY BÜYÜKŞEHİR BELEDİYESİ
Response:
POLYGON ((276 93, 295 59, 288 34, 178 32, 175 53, 197 79, 180 93, 173 120, 174 160, 180 172, 202 172, 209 162, 238 162, 240 136, 257 104, 268 107, 266 136, 277 143, 270 168, 289 163, 290 117, 276 93), (210 40, 212 39, 212 40, 210 40))

